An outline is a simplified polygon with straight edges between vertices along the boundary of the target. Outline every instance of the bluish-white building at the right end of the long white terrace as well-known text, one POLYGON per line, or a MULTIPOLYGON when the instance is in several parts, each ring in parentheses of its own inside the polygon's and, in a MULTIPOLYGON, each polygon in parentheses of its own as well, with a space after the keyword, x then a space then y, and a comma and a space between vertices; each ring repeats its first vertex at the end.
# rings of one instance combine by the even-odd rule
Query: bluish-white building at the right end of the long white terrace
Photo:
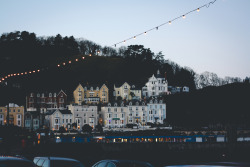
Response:
POLYGON ((162 100, 150 100, 147 104, 147 122, 163 124, 164 119, 166 119, 166 104, 162 100))

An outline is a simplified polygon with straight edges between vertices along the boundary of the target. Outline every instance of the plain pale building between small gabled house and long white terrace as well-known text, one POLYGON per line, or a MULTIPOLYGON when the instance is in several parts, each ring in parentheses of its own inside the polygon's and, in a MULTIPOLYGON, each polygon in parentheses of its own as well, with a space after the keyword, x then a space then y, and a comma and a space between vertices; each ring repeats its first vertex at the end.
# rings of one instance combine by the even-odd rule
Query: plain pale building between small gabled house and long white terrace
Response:
POLYGON ((89 124, 93 129, 98 124, 97 106, 89 105, 68 105, 72 112, 73 123, 77 124, 77 129, 82 130, 82 126, 89 124))

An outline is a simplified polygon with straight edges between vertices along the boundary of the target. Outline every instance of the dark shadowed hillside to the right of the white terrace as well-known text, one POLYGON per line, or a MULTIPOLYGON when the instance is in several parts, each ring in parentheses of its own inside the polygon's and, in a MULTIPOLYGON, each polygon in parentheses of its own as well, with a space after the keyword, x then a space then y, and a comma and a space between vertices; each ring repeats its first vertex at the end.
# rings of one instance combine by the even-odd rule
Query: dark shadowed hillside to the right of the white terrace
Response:
POLYGON ((167 121, 176 126, 250 127, 249 83, 206 87, 166 97, 167 121))

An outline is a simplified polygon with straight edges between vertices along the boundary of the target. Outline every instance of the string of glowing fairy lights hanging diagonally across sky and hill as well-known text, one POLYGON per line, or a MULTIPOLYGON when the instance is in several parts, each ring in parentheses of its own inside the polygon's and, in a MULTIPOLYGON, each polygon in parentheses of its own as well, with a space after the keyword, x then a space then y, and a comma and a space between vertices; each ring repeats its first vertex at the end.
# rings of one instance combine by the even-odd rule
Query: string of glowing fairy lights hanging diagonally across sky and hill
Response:
MULTIPOLYGON (((164 22, 164 23, 162 23, 162 24, 160 24, 160 25, 158 25, 158 26, 155 26, 155 27, 153 27, 153 28, 151 28, 151 29, 149 29, 149 30, 143 31, 142 33, 133 35, 133 36, 130 37, 130 38, 127 38, 127 39, 125 39, 125 40, 122 40, 122 41, 120 41, 120 42, 117 42, 117 43, 111 45, 111 47, 116 47, 116 46, 119 45, 119 44, 126 43, 127 41, 132 40, 132 39, 136 39, 138 36, 146 35, 146 34, 149 33, 150 31, 158 30, 159 27, 162 27, 162 26, 164 26, 164 25, 167 25, 167 24, 171 25, 174 21, 176 21, 176 20, 178 20, 178 19, 185 19, 185 18, 187 17, 187 15, 189 15, 189 14, 191 14, 191 13, 193 13, 193 12, 199 12, 202 8, 205 8, 205 7, 208 8, 208 7, 210 7, 211 4, 214 4, 216 1, 217 1, 217 0, 210 1, 209 3, 206 3, 206 4, 204 4, 204 5, 202 5, 202 6, 198 7, 198 8, 195 8, 195 9, 189 11, 189 12, 186 12, 186 13, 184 13, 184 14, 182 14, 182 15, 180 15, 180 16, 174 18, 174 19, 171 19, 171 20, 169 20, 169 21, 167 21, 167 22, 164 22)), ((99 53, 100 53, 100 51, 97 51, 97 55, 99 55, 99 53)), ((92 55, 89 54, 89 55, 87 55, 87 56, 91 57, 92 55)), ((76 58, 76 59, 72 59, 72 60, 69 60, 69 61, 62 62, 62 63, 60 63, 60 64, 57 64, 56 67, 62 68, 63 66, 69 65, 69 64, 71 64, 71 63, 73 63, 73 62, 79 62, 80 60, 84 60, 85 57, 86 57, 86 56, 82 56, 81 58, 76 58)), ((6 81, 8 78, 17 77, 17 76, 32 75, 32 74, 36 74, 36 73, 39 73, 39 72, 41 72, 41 69, 34 69, 34 70, 25 71, 25 72, 19 72, 19 73, 8 74, 8 75, 6 75, 6 76, 0 77, 0 83, 6 81)))

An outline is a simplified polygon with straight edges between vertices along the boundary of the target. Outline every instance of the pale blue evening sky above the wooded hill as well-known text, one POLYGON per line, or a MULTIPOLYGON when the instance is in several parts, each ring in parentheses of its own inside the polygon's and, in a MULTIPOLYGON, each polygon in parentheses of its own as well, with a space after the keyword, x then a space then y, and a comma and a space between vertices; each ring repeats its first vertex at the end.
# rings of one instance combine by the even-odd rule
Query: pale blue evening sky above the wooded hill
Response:
MULTIPOLYGON (((0 34, 34 32, 112 46, 213 0, 1 0, 0 34)), ((250 76, 250 1, 217 0, 209 8, 129 40, 196 73, 250 76)))

